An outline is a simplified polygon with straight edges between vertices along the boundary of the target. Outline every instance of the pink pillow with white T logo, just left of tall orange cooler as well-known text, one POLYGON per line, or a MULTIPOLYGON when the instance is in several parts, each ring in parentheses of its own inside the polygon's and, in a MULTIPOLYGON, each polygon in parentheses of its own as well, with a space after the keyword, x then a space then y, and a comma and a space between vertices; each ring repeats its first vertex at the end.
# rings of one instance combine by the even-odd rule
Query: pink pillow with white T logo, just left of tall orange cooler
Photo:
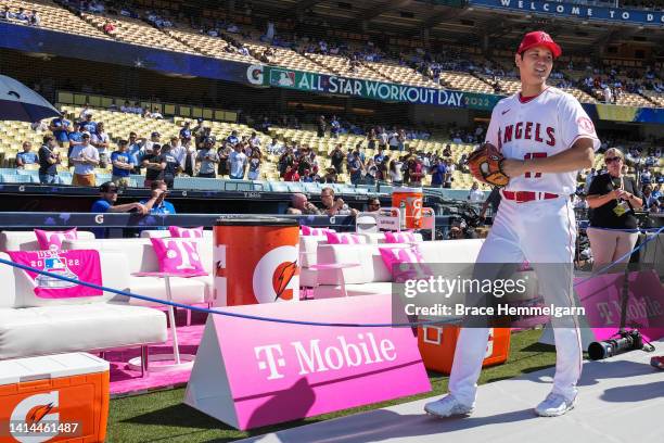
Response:
POLYGON ((161 273, 182 274, 188 276, 206 276, 201 263, 199 244, 183 239, 151 238, 152 248, 159 261, 161 273))

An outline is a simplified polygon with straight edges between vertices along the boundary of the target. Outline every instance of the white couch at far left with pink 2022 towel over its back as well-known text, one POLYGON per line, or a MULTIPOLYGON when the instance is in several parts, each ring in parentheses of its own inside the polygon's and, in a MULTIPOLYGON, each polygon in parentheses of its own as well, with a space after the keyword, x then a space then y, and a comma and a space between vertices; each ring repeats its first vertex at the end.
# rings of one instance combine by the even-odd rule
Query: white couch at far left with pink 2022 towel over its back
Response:
MULTIPOLYGON (((10 260, 4 253, 0 257, 10 260)), ((128 288, 125 255, 101 252, 100 258, 103 286, 128 288)), ((113 293, 40 299, 25 273, 5 264, 0 264, 0 359, 130 346, 145 351, 167 339, 163 313, 132 306, 113 293)))

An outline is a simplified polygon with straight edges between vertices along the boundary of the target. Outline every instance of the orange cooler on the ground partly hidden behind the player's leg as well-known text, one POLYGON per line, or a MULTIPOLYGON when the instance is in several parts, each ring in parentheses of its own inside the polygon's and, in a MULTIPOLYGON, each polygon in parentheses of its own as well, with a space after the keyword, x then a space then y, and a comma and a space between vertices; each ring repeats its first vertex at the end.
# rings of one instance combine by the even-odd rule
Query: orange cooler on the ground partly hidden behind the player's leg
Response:
MULTIPOLYGON (((426 369, 443 374, 451 372, 460 331, 461 329, 458 326, 423 326, 418 328, 418 346, 426 369)), ((505 363, 509 353, 510 328, 490 328, 482 367, 505 363)))

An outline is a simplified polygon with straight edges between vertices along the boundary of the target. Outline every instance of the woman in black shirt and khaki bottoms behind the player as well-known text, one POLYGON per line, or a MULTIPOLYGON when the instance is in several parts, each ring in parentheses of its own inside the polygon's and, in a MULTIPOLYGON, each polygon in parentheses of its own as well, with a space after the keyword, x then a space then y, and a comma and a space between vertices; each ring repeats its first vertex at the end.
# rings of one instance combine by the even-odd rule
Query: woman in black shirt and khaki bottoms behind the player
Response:
MULTIPOLYGON (((588 206, 592 210, 588 239, 595 258, 592 270, 599 270, 634 249, 638 239, 634 210, 642 205, 641 193, 631 177, 623 175, 623 153, 611 148, 604 153, 609 172, 595 177, 588 190, 588 206), (631 230, 631 231, 630 231, 631 230)), ((621 263, 628 263, 626 256, 621 263)), ((615 266, 608 269, 617 273, 615 266)))

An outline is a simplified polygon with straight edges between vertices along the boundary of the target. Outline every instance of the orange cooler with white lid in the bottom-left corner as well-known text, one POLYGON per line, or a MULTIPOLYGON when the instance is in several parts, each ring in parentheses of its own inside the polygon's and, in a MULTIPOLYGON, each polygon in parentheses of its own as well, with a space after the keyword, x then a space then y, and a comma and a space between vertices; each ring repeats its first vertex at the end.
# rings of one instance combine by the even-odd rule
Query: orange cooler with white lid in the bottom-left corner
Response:
POLYGON ((0 362, 0 442, 103 442, 108 362, 86 353, 0 362))

